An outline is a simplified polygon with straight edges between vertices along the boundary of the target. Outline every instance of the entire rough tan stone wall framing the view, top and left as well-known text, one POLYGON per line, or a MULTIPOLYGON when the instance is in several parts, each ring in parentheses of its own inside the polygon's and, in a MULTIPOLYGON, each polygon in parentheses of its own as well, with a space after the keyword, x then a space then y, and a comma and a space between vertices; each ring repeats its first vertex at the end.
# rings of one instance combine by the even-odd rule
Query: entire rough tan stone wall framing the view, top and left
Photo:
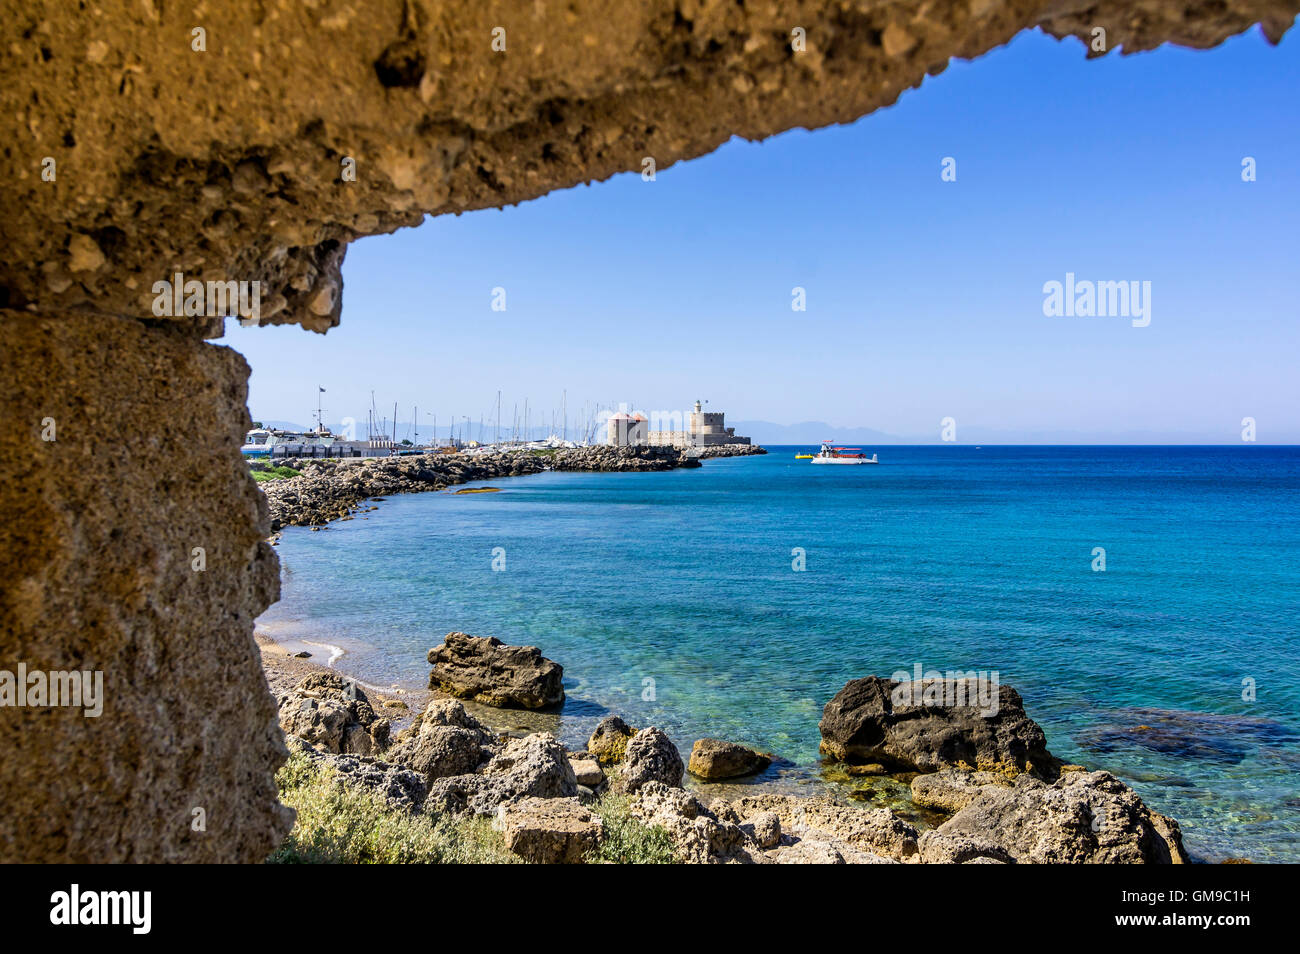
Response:
POLYGON ((113 6, 0 1, 0 669, 104 675, 98 717, 0 708, 3 860, 259 860, 291 823, 247 367, 157 282, 325 331, 358 237, 850 121, 1027 27, 1275 42, 1300 3, 113 6))

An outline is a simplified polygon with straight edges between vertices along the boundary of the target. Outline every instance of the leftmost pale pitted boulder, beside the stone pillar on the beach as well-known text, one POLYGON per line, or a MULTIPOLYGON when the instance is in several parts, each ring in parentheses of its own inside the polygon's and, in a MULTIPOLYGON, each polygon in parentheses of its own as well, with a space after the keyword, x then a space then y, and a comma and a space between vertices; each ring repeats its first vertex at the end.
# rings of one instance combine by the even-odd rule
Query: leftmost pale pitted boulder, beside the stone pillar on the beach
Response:
POLYGON ((380 719, 356 682, 315 672, 278 699, 280 728, 328 753, 377 755, 389 745, 391 723, 380 719))

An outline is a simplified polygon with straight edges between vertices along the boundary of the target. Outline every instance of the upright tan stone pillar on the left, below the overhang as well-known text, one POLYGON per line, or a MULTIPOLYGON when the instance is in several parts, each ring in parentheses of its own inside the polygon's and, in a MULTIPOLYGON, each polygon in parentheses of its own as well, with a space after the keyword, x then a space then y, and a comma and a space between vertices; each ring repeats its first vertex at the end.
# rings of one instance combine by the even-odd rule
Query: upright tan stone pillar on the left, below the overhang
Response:
POLYGON ((0 860, 261 860, 292 812, 252 637, 280 568, 239 459, 247 364, 178 326, 18 312, 0 364, 0 668, 104 693, 98 717, 0 708, 0 860))

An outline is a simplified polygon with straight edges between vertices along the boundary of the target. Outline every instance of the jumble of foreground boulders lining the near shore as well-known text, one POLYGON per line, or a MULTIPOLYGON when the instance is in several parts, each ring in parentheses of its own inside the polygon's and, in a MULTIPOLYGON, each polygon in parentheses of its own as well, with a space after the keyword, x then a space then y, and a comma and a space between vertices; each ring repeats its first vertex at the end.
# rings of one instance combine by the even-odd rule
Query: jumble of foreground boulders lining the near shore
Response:
MULTIPOLYGON (((562 667, 536 647, 451 633, 429 662, 438 691, 559 704, 562 667)), ((984 697, 962 682, 970 681, 853 680, 819 724, 827 760, 910 782, 913 803, 937 819, 930 825, 836 794, 715 797, 714 779, 760 771, 772 758, 722 740, 696 742, 689 772, 697 786, 686 790, 688 767, 668 736, 618 716, 606 717, 584 750, 568 751, 546 732, 494 732, 454 698, 430 697, 394 733, 384 715, 391 701, 372 704, 328 671, 281 690, 278 704, 292 750, 394 811, 493 819, 506 847, 528 862, 589 859, 604 837, 593 808, 616 793, 689 863, 1187 863, 1178 823, 1109 772, 1053 756, 1014 689, 994 686, 991 711, 971 703, 984 697)))

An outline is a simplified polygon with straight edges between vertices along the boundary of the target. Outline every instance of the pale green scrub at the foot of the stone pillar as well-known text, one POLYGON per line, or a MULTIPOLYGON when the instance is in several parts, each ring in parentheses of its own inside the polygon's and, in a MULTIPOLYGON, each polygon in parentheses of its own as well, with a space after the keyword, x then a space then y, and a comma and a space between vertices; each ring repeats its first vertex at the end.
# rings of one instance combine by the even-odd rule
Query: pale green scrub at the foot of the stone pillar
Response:
POLYGON ((276 775, 280 801, 298 821, 270 864, 502 864, 506 850, 486 820, 412 815, 333 768, 295 753, 276 775))

